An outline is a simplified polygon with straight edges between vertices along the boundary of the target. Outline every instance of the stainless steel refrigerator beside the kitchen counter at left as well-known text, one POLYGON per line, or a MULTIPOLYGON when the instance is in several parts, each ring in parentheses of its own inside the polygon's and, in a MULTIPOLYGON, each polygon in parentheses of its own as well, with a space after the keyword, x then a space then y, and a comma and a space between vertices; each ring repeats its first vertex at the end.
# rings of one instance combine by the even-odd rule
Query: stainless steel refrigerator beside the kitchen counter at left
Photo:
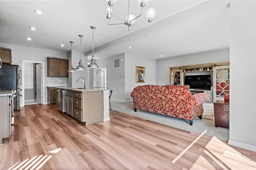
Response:
POLYGON ((0 89, 14 92, 14 111, 20 110, 21 70, 19 65, 2 65, 0 68, 0 89))

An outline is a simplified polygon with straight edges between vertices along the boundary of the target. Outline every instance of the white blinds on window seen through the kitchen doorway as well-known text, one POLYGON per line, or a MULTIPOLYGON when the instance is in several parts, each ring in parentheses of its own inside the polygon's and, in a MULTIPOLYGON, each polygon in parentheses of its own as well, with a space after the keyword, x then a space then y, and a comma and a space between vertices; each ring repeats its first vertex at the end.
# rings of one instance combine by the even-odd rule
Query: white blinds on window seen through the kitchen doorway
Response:
POLYGON ((24 89, 33 88, 33 63, 24 62, 24 89))

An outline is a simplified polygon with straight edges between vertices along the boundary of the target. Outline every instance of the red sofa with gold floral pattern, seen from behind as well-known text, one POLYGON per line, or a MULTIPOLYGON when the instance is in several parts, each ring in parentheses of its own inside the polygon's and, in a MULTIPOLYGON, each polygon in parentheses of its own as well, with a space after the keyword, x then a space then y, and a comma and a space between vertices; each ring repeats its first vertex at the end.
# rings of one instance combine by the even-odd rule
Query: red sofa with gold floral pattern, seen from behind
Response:
POLYGON ((131 93, 133 107, 137 109, 187 119, 202 119, 203 103, 209 98, 206 93, 191 95, 188 86, 145 85, 135 87, 131 93), (182 88, 183 87, 183 88, 182 88))

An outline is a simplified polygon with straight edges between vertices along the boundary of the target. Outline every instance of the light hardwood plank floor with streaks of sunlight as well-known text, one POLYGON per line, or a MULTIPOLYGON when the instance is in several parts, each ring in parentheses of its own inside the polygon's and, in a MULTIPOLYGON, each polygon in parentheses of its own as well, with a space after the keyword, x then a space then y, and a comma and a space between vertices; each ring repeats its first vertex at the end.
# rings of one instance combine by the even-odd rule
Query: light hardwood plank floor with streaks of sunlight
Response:
POLYGON ((55 105, 21 107, 15 112, 12 135, 0 145, 0 170, 256 169, 256 152, 112 113, 110 121, 83 126, 55 105))

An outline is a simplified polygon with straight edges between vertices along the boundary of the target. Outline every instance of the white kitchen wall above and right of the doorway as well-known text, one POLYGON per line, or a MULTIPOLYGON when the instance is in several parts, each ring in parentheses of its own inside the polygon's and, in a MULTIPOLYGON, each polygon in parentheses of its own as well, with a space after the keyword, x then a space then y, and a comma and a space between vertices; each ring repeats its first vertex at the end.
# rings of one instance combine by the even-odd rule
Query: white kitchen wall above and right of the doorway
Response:
MULTIPOLYGON (((47 57, 66 59, 66 53, 38 48, 27 48, 19 45, 1 43, 1 47, 12 49, 12 64, 20 65, 22 60, 44 62, 44 104, 47 104, 47 57)), ((21 102, 23 98, 21 97, 21 102)))

